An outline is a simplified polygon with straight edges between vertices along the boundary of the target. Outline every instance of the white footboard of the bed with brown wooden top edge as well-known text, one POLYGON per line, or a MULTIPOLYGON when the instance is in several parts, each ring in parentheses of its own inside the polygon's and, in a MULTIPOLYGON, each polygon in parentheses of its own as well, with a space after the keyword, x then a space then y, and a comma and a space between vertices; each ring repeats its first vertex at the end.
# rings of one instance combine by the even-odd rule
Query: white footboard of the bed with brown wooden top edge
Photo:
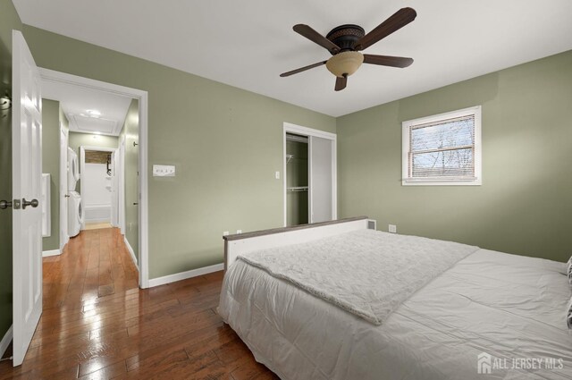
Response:
POLYGON ((301 224, 293 227, 273 228, 255 232, 223 236, 224 271, 240 254, 260 249, 283 247, 289 244, 315 241, 343 232, 366 230, 370 221, 367 216, 356 216, 330 222, 301 224))

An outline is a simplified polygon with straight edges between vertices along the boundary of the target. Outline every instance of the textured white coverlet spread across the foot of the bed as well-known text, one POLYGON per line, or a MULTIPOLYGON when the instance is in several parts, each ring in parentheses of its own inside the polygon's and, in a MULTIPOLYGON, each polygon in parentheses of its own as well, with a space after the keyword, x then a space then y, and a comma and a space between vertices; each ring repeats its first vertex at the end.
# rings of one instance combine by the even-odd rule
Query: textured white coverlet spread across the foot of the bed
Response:
POLYGON ((239 259, 381 325, 414 292, 477 249, 360 230, 252 252, 239 259))

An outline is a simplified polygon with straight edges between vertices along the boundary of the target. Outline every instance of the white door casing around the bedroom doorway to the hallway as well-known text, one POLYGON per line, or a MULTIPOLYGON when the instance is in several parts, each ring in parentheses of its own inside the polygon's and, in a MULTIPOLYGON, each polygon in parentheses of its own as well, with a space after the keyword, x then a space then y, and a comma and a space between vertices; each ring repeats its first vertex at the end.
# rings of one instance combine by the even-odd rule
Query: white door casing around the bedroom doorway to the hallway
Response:
POLYGON ((148 128, 148 94, 147 91, 132 89, 107 83, 100 80, 91 80, 65 72, 39 68, 42 80, 53 80, 89 89, 97 89, 123 97, 130 97, 139 101, 139 287, 149 287, 149 241, 148 241, 148 194, 147 194, 147 128, 148 128))

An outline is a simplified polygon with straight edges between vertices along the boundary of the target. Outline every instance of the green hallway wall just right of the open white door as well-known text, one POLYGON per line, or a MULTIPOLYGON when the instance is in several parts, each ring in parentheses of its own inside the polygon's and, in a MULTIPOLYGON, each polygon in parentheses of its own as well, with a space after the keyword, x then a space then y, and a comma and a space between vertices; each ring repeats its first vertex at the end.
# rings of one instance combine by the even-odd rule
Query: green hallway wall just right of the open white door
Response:
POLYGON ((43 250, 60 248, 60 103, 42 99, 42 173, 50 173, 51 228, 43 250))

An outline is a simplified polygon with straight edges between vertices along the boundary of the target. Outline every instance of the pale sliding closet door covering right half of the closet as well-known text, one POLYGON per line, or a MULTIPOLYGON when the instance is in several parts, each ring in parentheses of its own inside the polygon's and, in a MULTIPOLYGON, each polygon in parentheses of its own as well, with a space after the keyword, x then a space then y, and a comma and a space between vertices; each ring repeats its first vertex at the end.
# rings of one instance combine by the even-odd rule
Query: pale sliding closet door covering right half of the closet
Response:
POLYGON ((308 216, 310 223, 326 222, 335 218, 333 144, 332 139, 309 136, 308 216))

